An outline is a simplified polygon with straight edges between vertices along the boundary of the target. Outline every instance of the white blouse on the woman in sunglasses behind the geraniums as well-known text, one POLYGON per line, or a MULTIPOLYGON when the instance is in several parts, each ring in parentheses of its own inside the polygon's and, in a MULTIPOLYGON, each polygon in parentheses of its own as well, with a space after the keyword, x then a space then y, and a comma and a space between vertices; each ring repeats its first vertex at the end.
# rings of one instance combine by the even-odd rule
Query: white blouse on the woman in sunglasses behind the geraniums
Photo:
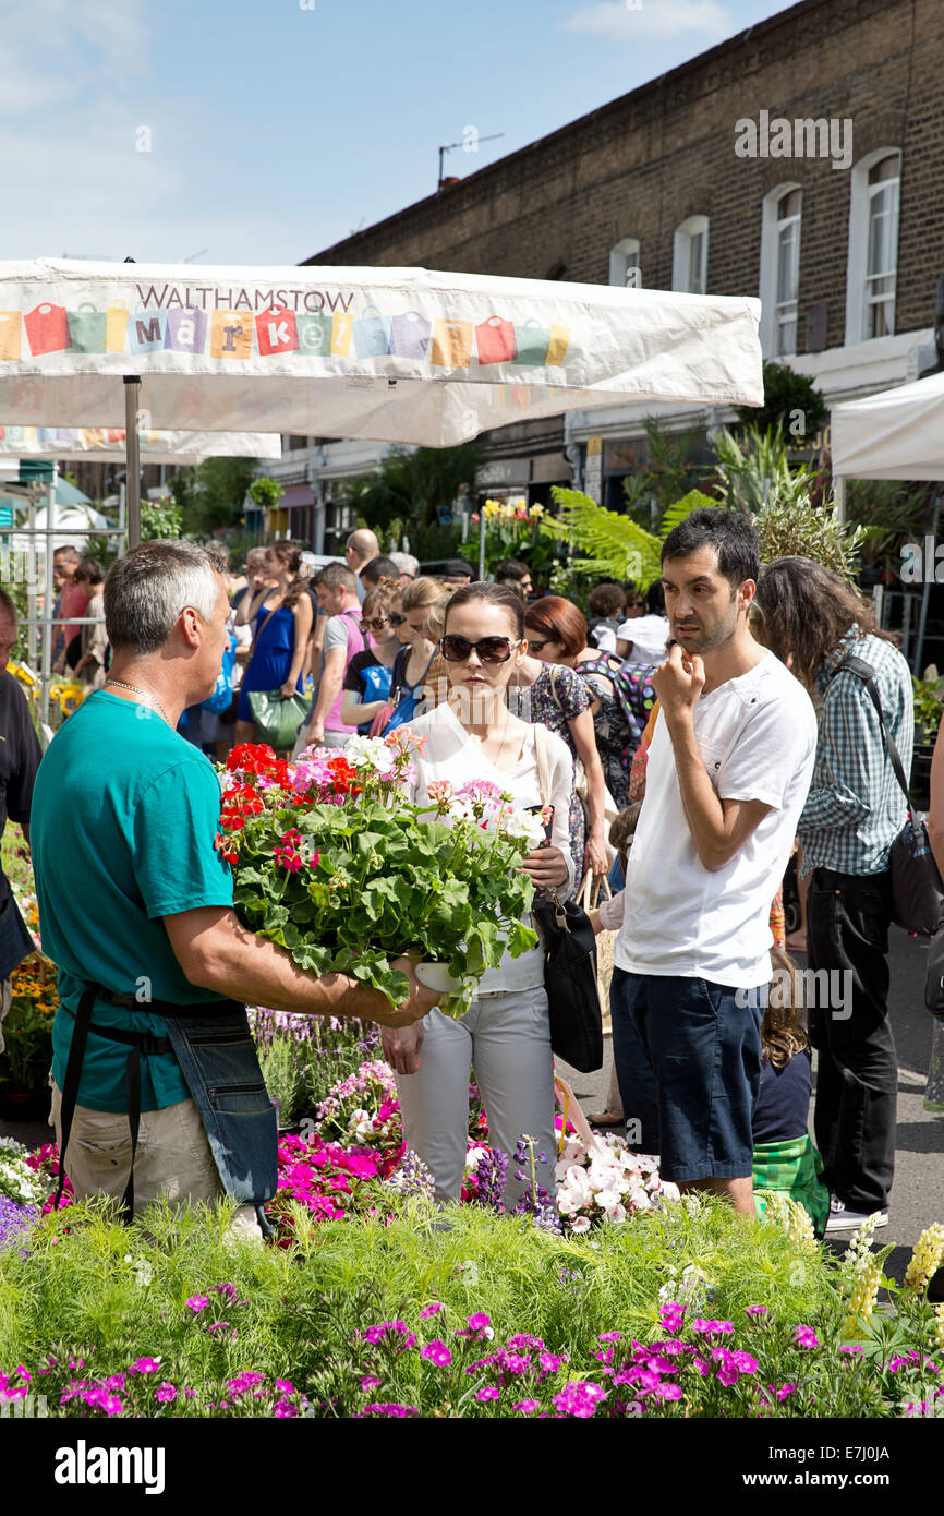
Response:
MULTIPOLYGON (((449 779, 456 790, 470 779, 488 779, 511 794, 515 807, 520 810, 542 803, 538 785, 535 726, 527 728, 518 763, 512 769, 495 769, 449 705, 439 705, 435 711, 420 716, 409 725, 412 731, 426 737, 423 753, 414 755, 417 784, 412 790, 412 799, 418 805, 424 805, 429 799, 427 787, 442 779, 449 779)), ((573 760, 567 743, 547 728, 542 728, 542 741, 545 744, 544 750, 550 775, 550 803, 555 808, 552 844, 564 854, 567 884, 561 885, 561 891, 562 894, 568 894, 573 890, 576 875, 570 854, 570 796, 574 784, 573 760)), ((530 914, 523 917, 523 920, 526 926, 530 926, 530 914)), ((512 958, 506 952, 497 969, 485 972, 479 982, 479 993, 533 990, 541 984, 544 984, 544 954, 538 946, 521 954, 518 958, 512 958)))

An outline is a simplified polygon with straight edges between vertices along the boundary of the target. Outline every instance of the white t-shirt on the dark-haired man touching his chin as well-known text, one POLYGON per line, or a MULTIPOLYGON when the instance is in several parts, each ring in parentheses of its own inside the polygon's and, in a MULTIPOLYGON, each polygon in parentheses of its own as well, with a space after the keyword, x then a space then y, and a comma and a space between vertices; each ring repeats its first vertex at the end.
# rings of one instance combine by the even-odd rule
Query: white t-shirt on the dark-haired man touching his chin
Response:
POLYGON ((770 979, 770 905, 809 790, 817 720, 803 685, 768 652, 749 673, 702 696, 694 728, 718 797, 764 800, 771 810, 730 863, 706 869, 659 713, 615 963, 630 973, 755 988, 770 979))

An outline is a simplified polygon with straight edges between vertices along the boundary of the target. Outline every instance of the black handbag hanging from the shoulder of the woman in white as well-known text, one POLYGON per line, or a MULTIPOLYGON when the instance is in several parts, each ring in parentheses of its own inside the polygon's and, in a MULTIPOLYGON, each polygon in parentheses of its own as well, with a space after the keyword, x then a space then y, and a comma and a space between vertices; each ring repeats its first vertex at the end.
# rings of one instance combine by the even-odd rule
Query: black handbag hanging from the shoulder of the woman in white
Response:
MULTIPOLYGON (((538 787, 550 803, 550 773, 544 747, 545 728, 535 726, 538 787)), ((597 979, 597 938, 589 916, 576 901, 541 891, 532 905, 544 946, 544 988, 550 1019, 550 1046, 556 1058, 579 1073, 603 1066, 603 1008, 597 979)))

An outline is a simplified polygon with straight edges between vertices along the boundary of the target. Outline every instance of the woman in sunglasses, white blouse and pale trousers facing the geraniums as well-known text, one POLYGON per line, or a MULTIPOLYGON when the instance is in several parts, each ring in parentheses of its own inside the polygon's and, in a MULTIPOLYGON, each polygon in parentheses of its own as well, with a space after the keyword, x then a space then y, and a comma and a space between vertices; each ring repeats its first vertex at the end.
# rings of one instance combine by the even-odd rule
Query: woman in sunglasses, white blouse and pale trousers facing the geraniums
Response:
MULTIPOLYGON (((497 785, 521 810, 549 802, 550 840, 530 852, 523 867, 535 885, 567 894, 574 878, 567 831, 570 753, 559 737, 512 716, 508 702, 509 681, 527 650, 521 596, 495 584, 456 590, 445 608, 441 647, 449 697, 411 723, 426 738, 414 760, 415 802, 427 803, 430 785, 442 781, 456 790, 471 781, 497 785), (538 744, 550 794, 541 793, 538 744)), ((409 1029, 385 1031, 383 1054, 397 1073, 406 1146, 432 1170, 439 1201, 458 1201, 462 1190, 473 1064, 489 1143, 514 1155, 524 1132, 535 1137, 538 1182, 555 1195, 553 1057, 541 948, 518 958, 506 954, 483 975, 461 1020, 433 1010, 409 1029)), ((512 1161, 506 1208, 524 1189, 512 1161)))

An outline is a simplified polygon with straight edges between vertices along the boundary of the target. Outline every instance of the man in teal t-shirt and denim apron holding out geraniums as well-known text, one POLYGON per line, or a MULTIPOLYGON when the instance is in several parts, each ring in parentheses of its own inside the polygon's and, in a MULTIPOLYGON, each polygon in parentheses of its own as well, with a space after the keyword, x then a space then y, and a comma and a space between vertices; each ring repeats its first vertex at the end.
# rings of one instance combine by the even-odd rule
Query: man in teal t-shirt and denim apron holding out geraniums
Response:
MULTIPOLYGON (((229 1122, 214 1126, 220 1087, 202 1082, 200 1051, 174 1040, 179 1016, 202 1016, 206 1007, 208 1017, 217 1014, 223 1025, 238 1002, 242 1026, 245 1004, 409 1026, 435 1002, 408 960, 397 966, 408 975, 411 996, 394 1010, 385 996, 344 975, 305 973, 282 948, 239 925, 229 864, 215 847, 220 782, 209 760, 176 731, 180 713, 215 687, 227 615, 226 581, 205 549, 158 541, 120 558, 105 582, 114 650, 106 687, 56 734, 33 791, 39 929, 44 952, 59 966, 56 1137, 62 1146, 76 1016, 80 1002, 88 1010, 95 987, 65 1170, 79 1196, 130 1195, 129 1111, 139 1105, 135 1210, 158 1196, 215 1199, 241 1158, 249 1182, 253 1167, 270 1160, 274 1172, 274 1123, 268 1152, 268 1135, 259 1137, 268 1122, 264 1128, 256 1122, 250 1134, 247 1084, 230 1084, 236 1098, 229 1101, 229 1122), (173 1010, 156 1014, 147 1008, 152 1002, 173 1010), (142 1041, 141 1034, 150 1037, 142 1041), (135 1040, 141 1046, 132 1049, 135 1040), (126 1084, 138 1055, 139 1095, 133 1079, 126 1084), (233 1116, 241 1110, 242 1123, 233 1116), (242 1129, 250 1148, 256 1145, 249 1157, 238 1152, 242 1129)), ((252 1048, 249 1055, 265 1104, 252 1048)))

